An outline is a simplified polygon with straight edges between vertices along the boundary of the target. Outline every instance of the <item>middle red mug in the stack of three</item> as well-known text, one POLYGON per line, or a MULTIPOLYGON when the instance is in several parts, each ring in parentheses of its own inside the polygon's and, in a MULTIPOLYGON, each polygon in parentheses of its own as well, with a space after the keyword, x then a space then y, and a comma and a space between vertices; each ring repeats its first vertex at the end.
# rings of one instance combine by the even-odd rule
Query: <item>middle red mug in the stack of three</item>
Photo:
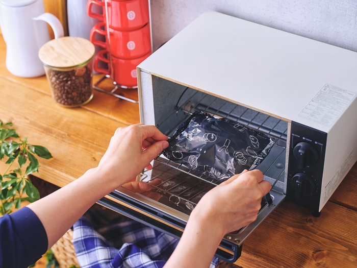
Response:
MULTIPOLYGON (((109 50, 108 40, 103 42, 95 39, 95 35, 107 36, 105 22, 98 22, 90 32, 89 40, 100 47, 109 50)), ((121 59, 134 59, 144 56, 151 51, 150 25, 147 23, 144 27, 134 31, 118 31, 109 29, 110 34, 110 52, 112 56, 121 59)))

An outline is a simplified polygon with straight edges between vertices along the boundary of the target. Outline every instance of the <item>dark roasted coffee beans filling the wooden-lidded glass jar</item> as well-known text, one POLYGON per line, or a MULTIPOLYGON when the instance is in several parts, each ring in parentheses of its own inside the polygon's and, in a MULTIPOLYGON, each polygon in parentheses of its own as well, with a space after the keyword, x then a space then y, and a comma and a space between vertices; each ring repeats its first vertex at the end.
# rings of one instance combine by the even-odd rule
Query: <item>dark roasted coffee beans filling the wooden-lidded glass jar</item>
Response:
POLYGON ((47 69, 46 75, 56 102, 65 106, 78 106, 92 95, 92 68, 81 68, 59 71, 47 69))

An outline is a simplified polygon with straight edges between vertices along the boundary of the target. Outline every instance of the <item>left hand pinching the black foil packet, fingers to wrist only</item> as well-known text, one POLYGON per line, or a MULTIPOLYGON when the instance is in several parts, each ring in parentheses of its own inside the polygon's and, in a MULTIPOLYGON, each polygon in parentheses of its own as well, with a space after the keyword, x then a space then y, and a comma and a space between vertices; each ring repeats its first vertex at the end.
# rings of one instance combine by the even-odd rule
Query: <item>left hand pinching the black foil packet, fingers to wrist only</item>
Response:
POLYGON ((167 139, 155 126, 118 128, 97 168, 114 188, 119 187, 145 167, 152 168, 150 162, 168 147, 167 139))

